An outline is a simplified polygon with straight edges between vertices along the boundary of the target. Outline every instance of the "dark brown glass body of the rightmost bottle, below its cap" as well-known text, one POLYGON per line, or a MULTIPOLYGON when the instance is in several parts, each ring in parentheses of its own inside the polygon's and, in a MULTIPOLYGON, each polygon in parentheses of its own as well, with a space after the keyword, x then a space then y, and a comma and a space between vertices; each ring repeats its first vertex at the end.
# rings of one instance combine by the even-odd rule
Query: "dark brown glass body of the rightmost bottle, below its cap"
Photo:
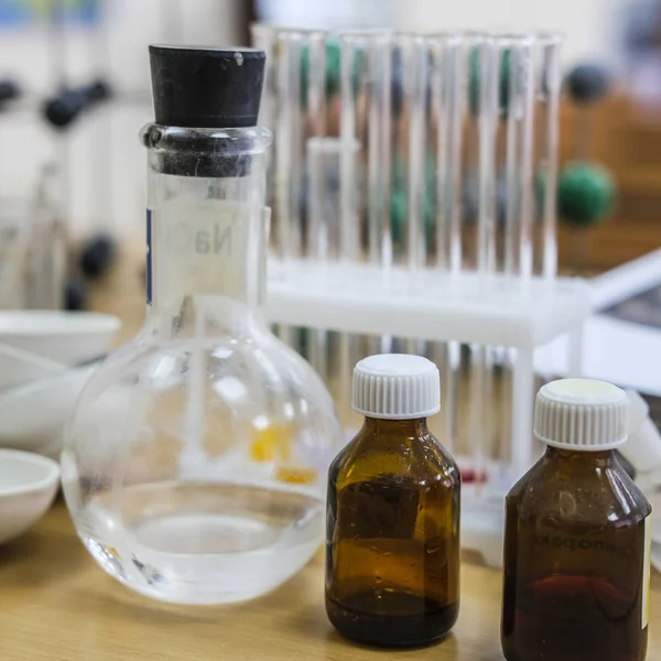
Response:
POLYGON ((505 657, 643 661, 651 507, 614 449, 568 446, 549 445, 507 497, 505 657))

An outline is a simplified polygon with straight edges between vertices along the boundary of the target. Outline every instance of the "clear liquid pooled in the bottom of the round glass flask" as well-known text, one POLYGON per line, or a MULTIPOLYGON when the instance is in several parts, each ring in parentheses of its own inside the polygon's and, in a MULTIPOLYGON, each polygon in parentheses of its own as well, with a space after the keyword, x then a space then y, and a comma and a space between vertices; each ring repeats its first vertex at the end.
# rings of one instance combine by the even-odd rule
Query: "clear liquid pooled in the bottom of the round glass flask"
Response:
POLYGON ((286 581, 319 545, 325 502, 303 491, 165 481, 111 490, 79 527, 104 570, 178 604, 253 598, 286 581), (112 540, 112 542, 110 542, 112 540))

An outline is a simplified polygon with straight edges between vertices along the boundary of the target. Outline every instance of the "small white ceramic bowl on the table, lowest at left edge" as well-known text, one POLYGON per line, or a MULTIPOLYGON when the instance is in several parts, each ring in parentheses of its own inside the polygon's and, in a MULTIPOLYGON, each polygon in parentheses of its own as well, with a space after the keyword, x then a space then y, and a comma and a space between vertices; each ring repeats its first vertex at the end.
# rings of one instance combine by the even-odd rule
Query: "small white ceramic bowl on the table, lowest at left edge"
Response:
POLYGON ((0 449, 0 544, 23 534, 51 507, 59 486, 53 459, 0 449))

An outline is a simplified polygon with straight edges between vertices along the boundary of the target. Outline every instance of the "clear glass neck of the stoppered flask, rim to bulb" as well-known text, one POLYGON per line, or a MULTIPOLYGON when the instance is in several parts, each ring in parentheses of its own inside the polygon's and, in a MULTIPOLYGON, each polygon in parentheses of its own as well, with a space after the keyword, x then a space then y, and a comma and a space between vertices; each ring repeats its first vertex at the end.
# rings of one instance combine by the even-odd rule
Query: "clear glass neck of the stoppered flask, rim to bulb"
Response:
POLYGON ((176 319, 202 310, 215 316, 214 310, 223 307, 234 317, 256 308, 266 284, 269 224, 263 137, 256 138, 252 129, 230 137, 178 129, 172 137, 153 126, 143 133, 150 141, 147 300, 152 316, 170 317, 177 326, 176 319), (193 137, 184 141, 186 132, 193 137), (199 170, 193 166, 195 154, 199 170))

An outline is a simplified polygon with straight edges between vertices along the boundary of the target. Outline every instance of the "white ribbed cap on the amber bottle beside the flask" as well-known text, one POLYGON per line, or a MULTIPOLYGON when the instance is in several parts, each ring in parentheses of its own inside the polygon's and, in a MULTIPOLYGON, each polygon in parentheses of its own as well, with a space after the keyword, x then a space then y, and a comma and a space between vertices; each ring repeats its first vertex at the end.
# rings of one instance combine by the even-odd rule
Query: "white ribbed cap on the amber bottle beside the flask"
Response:
POLYGON ((381 354, 354 368, 354 411, 382 420, 426 418, 441 409, 438 368, 422 356, 381 354))

